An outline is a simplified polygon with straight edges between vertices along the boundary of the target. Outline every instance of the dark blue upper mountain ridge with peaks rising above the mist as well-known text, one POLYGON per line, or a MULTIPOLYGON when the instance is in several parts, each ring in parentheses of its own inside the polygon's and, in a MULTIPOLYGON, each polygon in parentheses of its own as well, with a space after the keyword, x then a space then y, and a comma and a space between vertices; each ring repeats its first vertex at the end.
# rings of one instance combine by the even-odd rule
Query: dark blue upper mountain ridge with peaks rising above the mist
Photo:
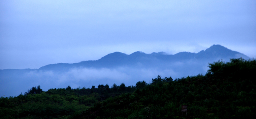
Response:
POLYGON ((221 45, 213 45, 206 50, 202 50, 198 53, 191 52, 179 52, 174 55, 168 55, 165 52, 153 52, 151 54, 146 54, 140 51, 133 52, 132 54, 125 54, 122 52, 114 52, 103 56, 102 58, 96 61, 82 61, 79 63, 66 64, 66 63, 58 63, 46 65, 39 70, 55 70, 55 71, 64 71, 70 68, 75 67, 85 67, 85 68, 114 68, 114 67, 156 67, 161 66, 161 64, 166 64, 169 62, 177 62, 189 59, 197 59, 197 60, 210 60, 213 61, 215 59, 220 60, 224 59, 229 61, 230 58, 239 58, 243 57, 245 59, 249 59, 248 56, 239 53, 237 51, 232 51, 227 49, 221 45))

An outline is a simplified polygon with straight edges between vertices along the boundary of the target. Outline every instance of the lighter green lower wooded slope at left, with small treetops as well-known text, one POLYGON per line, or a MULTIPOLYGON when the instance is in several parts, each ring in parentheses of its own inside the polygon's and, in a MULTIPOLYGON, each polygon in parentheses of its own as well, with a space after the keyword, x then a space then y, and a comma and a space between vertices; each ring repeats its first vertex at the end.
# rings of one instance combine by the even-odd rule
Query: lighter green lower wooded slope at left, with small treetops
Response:
MULTIPOLYGON (((129 86, 128 86, 129 87, 129 86)), ((111 96, 133 92, 135 87, 128 88, 122 83, 115 89, 106 84, 98 88, 76 88, 70 86, 59 89, 49 89, 43 92, 40 86, 32 87, 24 95, 0 98, 0 118, 58 118, 70 119, 83 114, 94 104, 111 96)))

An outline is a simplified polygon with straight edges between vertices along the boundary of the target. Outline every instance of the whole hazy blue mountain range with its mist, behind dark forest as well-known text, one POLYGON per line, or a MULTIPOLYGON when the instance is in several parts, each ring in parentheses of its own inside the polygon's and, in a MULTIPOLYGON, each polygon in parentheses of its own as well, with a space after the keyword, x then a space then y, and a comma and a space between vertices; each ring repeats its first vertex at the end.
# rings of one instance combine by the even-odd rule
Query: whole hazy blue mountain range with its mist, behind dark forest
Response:
MULTIPOLYGON (((0 70, 0 96, 17 96, 31 87, 40 85, 43 90, 50 88, 91 87, 92 85, 114 83, 135 85, 138 81, 150 81, 157 75, 181 78, 205 74, 208 64, 214 61, 229 61, 230 58, 248 56, 232 51, 221 45, 213 45, 198 53, 179 52, 167 54, 140 51, 132 54, 113 52, 95 61, 67 64, 58 63, 39 69, 0 70)), ((150 82, 148 82, 150 83, 150 82)))

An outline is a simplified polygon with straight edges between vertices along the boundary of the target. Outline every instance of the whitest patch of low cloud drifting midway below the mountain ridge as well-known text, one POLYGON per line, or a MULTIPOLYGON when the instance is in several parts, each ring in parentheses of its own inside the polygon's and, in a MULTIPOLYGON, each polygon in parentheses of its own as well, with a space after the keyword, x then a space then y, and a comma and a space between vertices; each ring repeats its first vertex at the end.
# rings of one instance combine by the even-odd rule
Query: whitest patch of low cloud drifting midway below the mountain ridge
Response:
POLYGON ((124 82, 126 85, 135 85, 136 82, 142 80, 151 80, 157 75, 175 74, 172 70, 157 70, 157 69, 138 69, 131 67, 119 68, 73 68, 67 72, 54 71, 31 71, 26 73, 25 77, 34 78, 41 87, 63 88, 65 86, 76 87, 91 87, 98 84, 119 84, 124 82), (43 86, 47 85, 47 86, 43 86))

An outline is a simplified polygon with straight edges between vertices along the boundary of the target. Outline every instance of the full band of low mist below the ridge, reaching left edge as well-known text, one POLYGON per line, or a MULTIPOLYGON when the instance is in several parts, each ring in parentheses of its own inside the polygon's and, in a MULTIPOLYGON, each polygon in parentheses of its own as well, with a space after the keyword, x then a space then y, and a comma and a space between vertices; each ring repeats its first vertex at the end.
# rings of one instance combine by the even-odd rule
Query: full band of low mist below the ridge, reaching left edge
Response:
POLYGON ((18 96, 31 87, 40 85, 44 91, 51 88, 86 87, 92 85, 108 84, 110 87, 116 83, 126 86, 135 86, 136 82, 145 80, 151 83, 152 78, 162 77, 181 78, 198 74, 205 74, 208 69, 206 61, 186 60, 162 64, 159 67, 115 67, 115 68, 71 68, 68 71, 43 71, 43 70, 13 70, 11 73, 1 72, 0 96, 18 96))

